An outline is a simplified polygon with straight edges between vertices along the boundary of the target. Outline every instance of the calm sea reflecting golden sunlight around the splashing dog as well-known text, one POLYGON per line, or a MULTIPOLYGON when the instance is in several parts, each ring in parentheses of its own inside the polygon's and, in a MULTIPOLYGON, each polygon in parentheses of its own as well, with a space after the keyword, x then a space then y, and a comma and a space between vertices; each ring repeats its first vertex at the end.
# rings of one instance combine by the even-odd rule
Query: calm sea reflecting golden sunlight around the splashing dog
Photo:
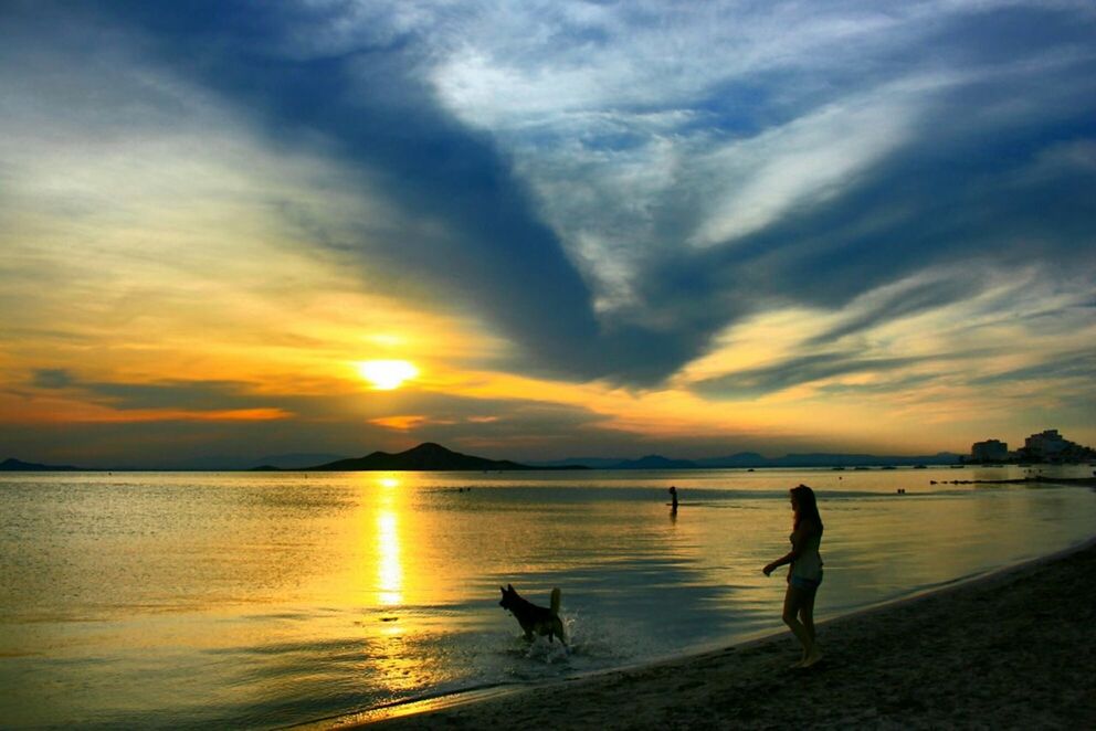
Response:
POLYGON ((779 627, 789 487, 824 617, 1090 537, 1089 489, 929 484, 1022 474, 4 475, 0 724, 282 727, 695 650, 779 627), (562 590, 569 654, 505 583, 562 590))

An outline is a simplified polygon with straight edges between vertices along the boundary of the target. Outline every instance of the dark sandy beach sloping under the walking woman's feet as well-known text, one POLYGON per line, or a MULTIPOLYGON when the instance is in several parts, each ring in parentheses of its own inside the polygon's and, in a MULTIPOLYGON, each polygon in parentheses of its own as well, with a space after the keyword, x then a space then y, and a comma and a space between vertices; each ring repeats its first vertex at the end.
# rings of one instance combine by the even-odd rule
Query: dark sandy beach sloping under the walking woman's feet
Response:
POLYGON ((345 722, 386 731, 1094 728, 1096 545, 832 619, 819 640, 825 659, 810 670, 789 668, 799 649, 786 634, 345 722))

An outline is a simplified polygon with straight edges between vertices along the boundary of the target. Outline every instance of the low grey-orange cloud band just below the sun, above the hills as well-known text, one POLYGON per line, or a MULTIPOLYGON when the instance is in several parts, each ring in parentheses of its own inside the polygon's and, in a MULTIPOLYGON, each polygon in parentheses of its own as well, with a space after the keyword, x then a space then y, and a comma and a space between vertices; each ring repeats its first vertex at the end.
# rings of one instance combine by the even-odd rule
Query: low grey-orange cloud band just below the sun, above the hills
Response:
POLYGON ((590 445, 629 444, 636 438, 612 428, 607 415, 580 405, 412 389, 325 389, 323 394, 307 395, 272 392, 257 382, 93 381, 71 370, 36 369, 14 394, 24 401, 63 399, 70 404, 70 415, 12 425, 9 420, 15 414, 9 414, 9 419, 0 420, 0 432, 13 435, 9 448, 36 444, 34 453, 44 456, 48 453, 43 453, 42 444, 54 441, 46 438, 49 434, 80 433, 83 452, 70 454, 92 466, 125 464, 126 452, 136 454, 143 444, 155 445, 155 452, 137 466, 162 467, 187 466, 188 460, 217 453, 242 455, 238 459, 280 451, 357 455, 377 448, 403 449, 428 441, 488 455, 537 456, 546 443, 581 439, 590 445), (73 403, 81 404, 83 412, 74 413, 73 403), (88 412, 88 407, 94 410, 88 412), (241 422, 246 422, 246 428, 241 428, 241 422), (124 434, 128 442, 112 444, 109 434, 124 434))

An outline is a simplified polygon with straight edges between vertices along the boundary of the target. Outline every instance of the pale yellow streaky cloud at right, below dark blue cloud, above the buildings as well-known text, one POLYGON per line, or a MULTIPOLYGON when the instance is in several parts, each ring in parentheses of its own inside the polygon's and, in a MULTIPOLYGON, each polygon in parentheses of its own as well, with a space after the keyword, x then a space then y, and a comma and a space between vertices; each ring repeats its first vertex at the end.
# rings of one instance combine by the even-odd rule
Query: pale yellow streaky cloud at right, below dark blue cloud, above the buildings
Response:
POLYGON ((1087 389, 1071 374, 1084 362, 1078 353, 1092 352, 1079 343, 1096 321, 1078 297, 1082 280, 1030 266, 940 269, 883 285, 840 310, 768 312, 725 333, 681 385, 721 400, 793 392, 928 404, 988 402, 988 384, 1028 380, 1032 403, 1053 392, 1084 402, 1087 389))

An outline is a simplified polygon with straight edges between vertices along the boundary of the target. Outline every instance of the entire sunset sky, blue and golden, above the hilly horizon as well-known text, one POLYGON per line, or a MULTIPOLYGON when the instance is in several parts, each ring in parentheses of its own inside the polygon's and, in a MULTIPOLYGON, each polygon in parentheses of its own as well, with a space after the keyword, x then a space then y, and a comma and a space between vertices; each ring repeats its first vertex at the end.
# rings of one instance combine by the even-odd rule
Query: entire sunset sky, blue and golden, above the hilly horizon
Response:
POLYGON ((1090 1, 0 3, 0 458, 1096 446, 1094 244, 1090 1))

